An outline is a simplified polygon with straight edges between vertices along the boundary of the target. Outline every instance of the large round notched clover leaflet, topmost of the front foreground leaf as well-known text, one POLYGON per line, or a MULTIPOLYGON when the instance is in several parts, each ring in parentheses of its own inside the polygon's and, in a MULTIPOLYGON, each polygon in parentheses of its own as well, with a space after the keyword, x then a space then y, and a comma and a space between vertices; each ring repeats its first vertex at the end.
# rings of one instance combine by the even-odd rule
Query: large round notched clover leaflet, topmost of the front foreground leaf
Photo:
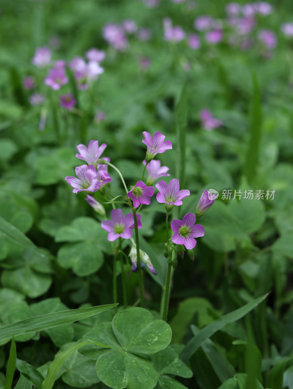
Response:
POLYGON ((157 353, 168 346, 172 336, 171 328, 164 320, 154 320, 152 314, 142 308, 117 313, 112 328, 122 348, 130 353, 157 353))

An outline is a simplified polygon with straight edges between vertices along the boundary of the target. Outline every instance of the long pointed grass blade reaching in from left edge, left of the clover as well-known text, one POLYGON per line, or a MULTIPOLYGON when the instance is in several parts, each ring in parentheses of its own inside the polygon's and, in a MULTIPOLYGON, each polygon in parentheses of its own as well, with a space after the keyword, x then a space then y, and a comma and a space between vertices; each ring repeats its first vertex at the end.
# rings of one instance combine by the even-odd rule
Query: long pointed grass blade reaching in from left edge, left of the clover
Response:
POLYGON ((90 308, 72 309, 63 312, 53 312, 47 315, 28 318, 0 327, 0 342, 12 338, 12 336, 31 334, 33 332, 53 328, 61 324, 72 323, 73 321, 89 318, 100 312, 107 311, 117 304, 100 305, 90 308))

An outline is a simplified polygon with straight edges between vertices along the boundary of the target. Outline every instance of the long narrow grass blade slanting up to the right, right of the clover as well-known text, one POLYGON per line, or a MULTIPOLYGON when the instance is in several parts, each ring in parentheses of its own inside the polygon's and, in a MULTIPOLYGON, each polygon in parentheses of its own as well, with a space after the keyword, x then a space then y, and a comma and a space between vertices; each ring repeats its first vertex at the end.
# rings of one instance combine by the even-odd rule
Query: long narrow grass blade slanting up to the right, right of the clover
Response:
POLYGON ((261 301, 263 301, 268 295, 264 295, 258 297, 257 299, 248 302, 246 305, 241 308, 236 309, 233 312, 230 312, 227 315, 222 316, 220 319, 214 321, 213 323, 207 325, 203 328, 198 335, 193 336, 192 339, 189 340, 187 345, 184 347, 183 352, 180 354, 180 358, 183 362, 188 361, 188 359, 198 350, 201 346, 202 342, 208 339, 210 336, 215 334, 221 328, 223 328, 226 324, 232 323, 240 318, 243 318, 248 312, 253 310, 261 301))

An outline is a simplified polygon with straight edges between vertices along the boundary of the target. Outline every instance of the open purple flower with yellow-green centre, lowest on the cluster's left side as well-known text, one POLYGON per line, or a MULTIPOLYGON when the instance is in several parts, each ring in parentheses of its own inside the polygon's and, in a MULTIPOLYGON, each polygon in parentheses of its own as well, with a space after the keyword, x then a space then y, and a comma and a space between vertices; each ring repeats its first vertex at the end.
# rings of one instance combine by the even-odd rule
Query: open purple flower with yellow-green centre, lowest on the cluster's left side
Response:
POLYGON ((129 239, 132 236, 132 230, 130 228, 132 220, 128 215, 123 217, 123 213, 120 209, 115 209, 111 211, 112 220, 103 220, 101 227, 108 231, 108 240, 113 242, 117 238, 121 237, 124 239, 129 239))

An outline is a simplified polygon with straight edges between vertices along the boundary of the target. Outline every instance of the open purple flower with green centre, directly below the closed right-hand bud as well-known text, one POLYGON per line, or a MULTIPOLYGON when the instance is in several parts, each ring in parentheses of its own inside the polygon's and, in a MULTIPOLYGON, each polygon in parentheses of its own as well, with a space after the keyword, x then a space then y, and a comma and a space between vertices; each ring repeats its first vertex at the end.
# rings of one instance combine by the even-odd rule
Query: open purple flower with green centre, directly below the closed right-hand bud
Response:
POLYGON ((172 242, 176 245, 184 245, 187 250, 195 248, 196 240, 204 235, 204 228, 195 224, 195 214, 187 213, 183 220, 174 219, 171 222, 171 229, 174 231, 172 242))

